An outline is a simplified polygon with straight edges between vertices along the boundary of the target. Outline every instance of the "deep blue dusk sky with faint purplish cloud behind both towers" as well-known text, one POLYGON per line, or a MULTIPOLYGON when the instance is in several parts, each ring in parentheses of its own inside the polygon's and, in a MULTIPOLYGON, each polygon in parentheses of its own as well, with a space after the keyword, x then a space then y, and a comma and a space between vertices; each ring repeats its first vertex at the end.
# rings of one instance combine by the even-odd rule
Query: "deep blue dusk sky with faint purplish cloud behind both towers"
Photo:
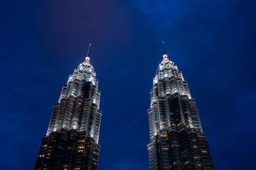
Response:
POLYGON ((256 0, 1 0, 0 170, 32 170, 68 75, 92 43, 98 170, 148 170, 162 44, 188 81, 216 170, 253 170, 256 0))

